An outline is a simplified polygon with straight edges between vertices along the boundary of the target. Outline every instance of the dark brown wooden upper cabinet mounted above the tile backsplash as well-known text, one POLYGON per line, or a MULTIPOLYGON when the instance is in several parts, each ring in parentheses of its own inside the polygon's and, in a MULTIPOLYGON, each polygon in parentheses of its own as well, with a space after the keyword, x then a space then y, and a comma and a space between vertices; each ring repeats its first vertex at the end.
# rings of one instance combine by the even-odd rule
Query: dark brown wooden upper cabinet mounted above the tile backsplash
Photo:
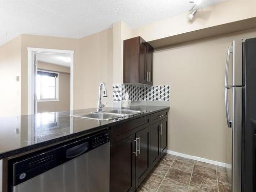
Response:
POLYGON ((123 83, 153 84, 153 52, 141 37, 123 41, 123 83))

